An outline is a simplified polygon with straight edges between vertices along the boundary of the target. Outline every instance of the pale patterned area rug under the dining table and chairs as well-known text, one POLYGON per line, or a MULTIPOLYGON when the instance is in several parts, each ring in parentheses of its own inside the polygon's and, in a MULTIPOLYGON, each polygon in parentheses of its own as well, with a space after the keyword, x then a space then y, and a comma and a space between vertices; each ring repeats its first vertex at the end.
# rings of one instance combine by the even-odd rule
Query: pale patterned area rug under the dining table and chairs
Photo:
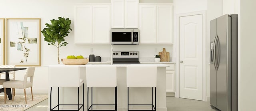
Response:
POLYGON ((14 100, 6 99, 6 104, 4 104, 4 95, 0 95, 0 111, 24 111, 41 101, 48 98, 48 95, 34 94, 34 101, 32 101, 31 95, 27 95, 27 104, 25 103, 24 95, 14 96, 14 100))

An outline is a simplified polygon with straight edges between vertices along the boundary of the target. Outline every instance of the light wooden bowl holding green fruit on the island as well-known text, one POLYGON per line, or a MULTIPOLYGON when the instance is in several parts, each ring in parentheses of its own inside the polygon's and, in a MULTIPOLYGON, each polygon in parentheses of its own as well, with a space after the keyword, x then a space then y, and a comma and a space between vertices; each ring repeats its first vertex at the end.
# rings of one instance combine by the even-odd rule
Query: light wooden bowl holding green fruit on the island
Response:
POLYGON ((89 62, 89 59, 61 59, 65 65, 85 65, 89 62))

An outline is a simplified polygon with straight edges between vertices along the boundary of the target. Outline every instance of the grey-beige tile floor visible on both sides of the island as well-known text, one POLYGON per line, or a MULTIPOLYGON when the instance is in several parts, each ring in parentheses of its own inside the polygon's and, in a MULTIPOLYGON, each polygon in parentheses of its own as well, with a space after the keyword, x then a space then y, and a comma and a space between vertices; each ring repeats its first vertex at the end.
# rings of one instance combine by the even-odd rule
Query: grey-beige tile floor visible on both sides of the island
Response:
MULTIPOLYGON (((209 102, 175 97, 167 97, 166 101, 168 111, 218 111, 212 109, 209 102)), ((47 108, 48 99, 34 105, 26 111, 47 111, 47 108)))

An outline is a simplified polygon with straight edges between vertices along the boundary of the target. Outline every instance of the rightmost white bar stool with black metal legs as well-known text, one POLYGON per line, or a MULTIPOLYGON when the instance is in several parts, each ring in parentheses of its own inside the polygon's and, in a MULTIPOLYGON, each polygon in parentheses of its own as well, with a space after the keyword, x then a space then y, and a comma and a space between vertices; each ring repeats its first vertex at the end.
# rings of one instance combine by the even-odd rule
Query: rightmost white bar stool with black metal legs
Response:
POLYGON ((128 111, 156 111, 156 74, 154 65, 127 65, 126 82, 128 89, 128 111), (152 87, 152 104, 129 104, 129 87, 152 87), (154 105, 155 89, 155 105, 154 105), (150 105, 152 110, 129 110, 129 106, 150 105))

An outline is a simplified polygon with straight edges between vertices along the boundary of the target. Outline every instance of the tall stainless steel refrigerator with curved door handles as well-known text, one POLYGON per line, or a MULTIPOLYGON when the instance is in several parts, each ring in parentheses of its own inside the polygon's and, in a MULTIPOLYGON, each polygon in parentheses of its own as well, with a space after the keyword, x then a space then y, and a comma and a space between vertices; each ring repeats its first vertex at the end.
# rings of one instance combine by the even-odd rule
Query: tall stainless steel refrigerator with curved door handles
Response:
POLYGON ((238 111, 238 15, 210 21, 210 106, 238 111))

